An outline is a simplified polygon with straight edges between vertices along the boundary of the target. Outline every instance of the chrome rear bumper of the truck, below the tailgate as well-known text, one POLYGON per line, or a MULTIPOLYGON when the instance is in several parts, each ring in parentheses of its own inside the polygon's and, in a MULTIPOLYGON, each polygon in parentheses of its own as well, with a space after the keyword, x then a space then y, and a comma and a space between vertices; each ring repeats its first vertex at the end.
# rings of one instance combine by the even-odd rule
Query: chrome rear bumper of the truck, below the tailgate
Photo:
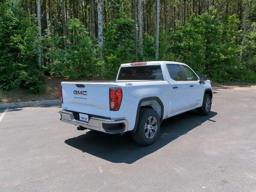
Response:
POLYGON ((126 132, 128 129, 128 123, 124 119, 111 120, 98 117, 91 117, 89 122, 87 123, 80 120, 76 120, 73 112, 66 110, 60 111, 60 120, 76 126, 83 126, 91 130, 96 130, 110 134, 126 132))

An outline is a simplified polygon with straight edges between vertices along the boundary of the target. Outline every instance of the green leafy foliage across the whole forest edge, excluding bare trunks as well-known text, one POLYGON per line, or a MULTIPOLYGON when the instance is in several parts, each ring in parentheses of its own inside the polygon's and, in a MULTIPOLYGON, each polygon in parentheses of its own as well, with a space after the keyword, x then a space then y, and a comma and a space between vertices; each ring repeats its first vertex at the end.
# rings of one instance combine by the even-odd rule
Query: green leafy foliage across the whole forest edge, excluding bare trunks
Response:
MULTIPOLYGON (((0 4, 0 88, 20 87, 33 93, 42 92, 44 74, 87 80, 115 78, 120 64, 135 61, 134 20, 126 6, 123 4, 121 9, 113 6, 118 14, 104 20, 104 44, 100 50, 84 18, 68 17, 64 36, 62 23, 53 17, 53 29, 44 26, 42 40, 38 40, 35 15, 20 5, 13 5, 12 1, 4 1, 0 4), (37 64, 38 44, 43 47, 41 67, 37 64)), ((162 18, 159 60, 184 62, 216 82, 256 83, 254 10, 252 1, 245 34, 242 13, 219 14, 214 7, 201 14, 190 14, 186 22, 172 21, 170 27, 168 20, 162 18), (243 36, 244 51, 239 63, 243 36)), ((155 60, 155 34, 150 27, 145 28, 139 61, 155 60)))

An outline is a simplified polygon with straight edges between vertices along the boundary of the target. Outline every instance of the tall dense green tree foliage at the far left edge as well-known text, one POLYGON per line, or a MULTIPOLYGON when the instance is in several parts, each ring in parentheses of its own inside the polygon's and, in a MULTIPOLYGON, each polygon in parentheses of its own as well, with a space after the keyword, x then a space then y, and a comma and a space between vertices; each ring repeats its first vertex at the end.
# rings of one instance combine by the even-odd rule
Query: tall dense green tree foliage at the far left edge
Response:
POLYGON ((0 88, 43 92, 43 70, 37 66, 37 27, 23 10, 0 4, 0 88))

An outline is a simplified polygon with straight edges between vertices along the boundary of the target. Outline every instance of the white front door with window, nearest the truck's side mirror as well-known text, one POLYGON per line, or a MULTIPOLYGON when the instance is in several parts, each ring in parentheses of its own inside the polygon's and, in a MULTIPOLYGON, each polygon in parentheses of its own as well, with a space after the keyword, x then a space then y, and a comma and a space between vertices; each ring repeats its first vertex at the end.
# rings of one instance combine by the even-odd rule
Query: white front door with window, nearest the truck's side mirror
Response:
POLYGON ((189 108, 202 104, 203 87, 198 76, 187 66, 180 65, 189 89, 189 108))

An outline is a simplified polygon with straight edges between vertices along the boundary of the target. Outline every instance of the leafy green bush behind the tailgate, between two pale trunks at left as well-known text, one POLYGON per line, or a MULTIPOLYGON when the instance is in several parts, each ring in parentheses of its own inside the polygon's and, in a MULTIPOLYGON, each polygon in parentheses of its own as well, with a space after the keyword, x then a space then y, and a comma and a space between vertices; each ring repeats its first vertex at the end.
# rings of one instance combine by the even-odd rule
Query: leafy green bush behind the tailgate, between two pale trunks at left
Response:
MULTIPOLYGON (((99 68, 96 65, 96 49, 92 45, 92 40, 88 36, 83 24, 75 19, 67 25, 70 35, 67 36, 68 48, 56 48, 48 54, 53 62, 48 66, 52 76, 69 76, 71 79, 81 77, 93 77, 99 75, 99 68), (76 36, 73 34, 76 33, 76 36)), ((61 39, 58 37, 48 37, 44 46, 53 46, 47 42, 60 44, 61 39)))

